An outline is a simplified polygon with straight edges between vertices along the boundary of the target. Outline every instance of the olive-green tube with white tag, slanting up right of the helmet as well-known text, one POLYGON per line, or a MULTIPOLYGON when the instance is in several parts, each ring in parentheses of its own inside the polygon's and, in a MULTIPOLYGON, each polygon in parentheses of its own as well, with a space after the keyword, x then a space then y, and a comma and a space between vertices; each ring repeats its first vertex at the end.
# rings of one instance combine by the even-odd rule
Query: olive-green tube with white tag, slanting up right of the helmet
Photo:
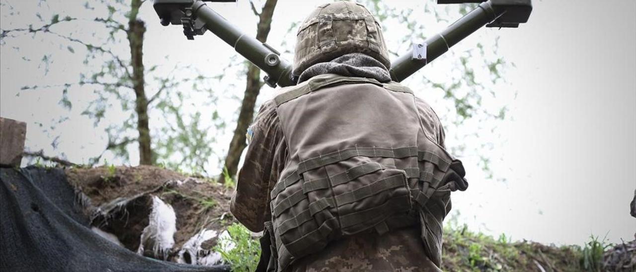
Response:
POLYGON ((490 0, 481 3, 477 8, 454 22, 444 31, 426 39, 426 60, 413 59, 413 50, 397 57, 391 65, 391 78, 400 82, 417 72, 428 62, 439 57, 462 39, 477 31, 501 16, 505 10, 497 8, 490 0))

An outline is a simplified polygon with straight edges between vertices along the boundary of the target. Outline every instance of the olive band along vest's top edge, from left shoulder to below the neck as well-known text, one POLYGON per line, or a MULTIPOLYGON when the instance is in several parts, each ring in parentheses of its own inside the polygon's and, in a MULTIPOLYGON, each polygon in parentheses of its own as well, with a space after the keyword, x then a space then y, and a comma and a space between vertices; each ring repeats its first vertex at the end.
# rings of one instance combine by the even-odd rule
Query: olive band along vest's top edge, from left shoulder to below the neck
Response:
POLYGON ((280 93, 274 97, 274 102, 278 107, 280 104, 283 104, 289 100, 296 99, 301 95, 305 95, 310 92, 314 92, 315 90, 319 90, 328 86, 336 86, 343 84, 363 84, 370 83, 377 86, 382 86, 380 81, 377 81, 373 78, 354 78, 354 77, 346 77, 346 76, 335 76, 332 74, 328 74, 327 76, 316 76, 305 84, 301 84, 290 88, 289 91, 280 93))

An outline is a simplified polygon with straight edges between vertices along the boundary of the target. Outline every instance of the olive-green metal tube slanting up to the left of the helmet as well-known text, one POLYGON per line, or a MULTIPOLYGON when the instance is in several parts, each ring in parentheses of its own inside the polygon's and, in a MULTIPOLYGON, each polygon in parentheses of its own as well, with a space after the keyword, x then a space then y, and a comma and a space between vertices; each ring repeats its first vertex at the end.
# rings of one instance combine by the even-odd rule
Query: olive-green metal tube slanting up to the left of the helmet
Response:
POLYGON ((290 78, 291 64, 279 57, 279 53, 267 44, 261 43, 254 37, 245 35, 230 24, 203 1, 197 0, 192 5, 192 11, 197 18, 205 23, 205 28, 230 44, 237 53, 247 58, 252 64, 268 74, 266 82, 279 86, 296 85, 290 78))

